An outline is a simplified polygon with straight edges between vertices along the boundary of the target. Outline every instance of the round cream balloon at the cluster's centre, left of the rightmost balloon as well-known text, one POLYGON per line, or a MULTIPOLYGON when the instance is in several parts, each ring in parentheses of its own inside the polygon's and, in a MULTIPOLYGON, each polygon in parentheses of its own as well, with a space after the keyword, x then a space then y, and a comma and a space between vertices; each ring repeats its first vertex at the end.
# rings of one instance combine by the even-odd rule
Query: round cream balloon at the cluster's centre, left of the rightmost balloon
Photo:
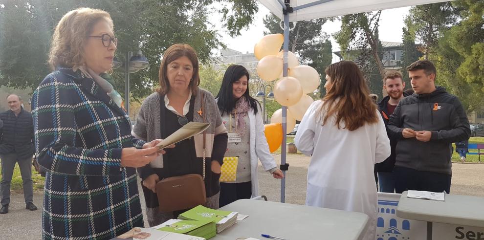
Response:
POLYGON ((299 80, 293 77, 285 77, 277 81, 274 86, 274 98, 282 106, 292 106, 299 102, 303 95, 303 88, 299 80))

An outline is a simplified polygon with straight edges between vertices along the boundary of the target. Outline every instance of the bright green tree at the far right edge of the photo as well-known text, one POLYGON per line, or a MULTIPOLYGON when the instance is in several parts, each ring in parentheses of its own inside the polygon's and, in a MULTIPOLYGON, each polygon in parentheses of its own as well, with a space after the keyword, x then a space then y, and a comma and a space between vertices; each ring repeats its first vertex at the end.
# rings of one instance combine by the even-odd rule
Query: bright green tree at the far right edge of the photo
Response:
POLYGON ((452 4, 460 10, 460 22, 454 22, 439 39, 437 81, 473 111, 484 106, 484 2, 460 0, 452 4))

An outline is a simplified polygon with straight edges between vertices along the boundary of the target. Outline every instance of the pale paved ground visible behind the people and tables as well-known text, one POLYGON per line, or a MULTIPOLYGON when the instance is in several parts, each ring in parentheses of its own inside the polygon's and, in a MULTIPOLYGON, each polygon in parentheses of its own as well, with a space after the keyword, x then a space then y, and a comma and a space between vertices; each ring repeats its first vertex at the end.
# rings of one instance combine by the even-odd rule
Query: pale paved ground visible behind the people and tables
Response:
MULTIPOLYGON (((280 155, 275 156, 280 162, 280 155)), ((286 177, 286 202, 304 204, 306 198, 306 174, 310 158, 303 155, 288 155, 290 164, 286 177)), ((484 164, 454 163, 452 166, 451 193, 459 195, 484 196, 484 164)), ((280 200, 281 182, 262 171, 259 167, 259 193, 271 201, 280 200)), ((142 195, 141 195, 142 196, 142 195)), ((0 240, 37 240, 42 233, 42 192, 35 192, 37 211, 25 209, 23 194, 13 193, 10 212, 0 215, 0 240)), ((142 199, 142 203, 144 200, 142 199)), ((143 205, 143 204, 142 204, 143 205)), ((145 216, 146 219, 146 216, 145 216)))

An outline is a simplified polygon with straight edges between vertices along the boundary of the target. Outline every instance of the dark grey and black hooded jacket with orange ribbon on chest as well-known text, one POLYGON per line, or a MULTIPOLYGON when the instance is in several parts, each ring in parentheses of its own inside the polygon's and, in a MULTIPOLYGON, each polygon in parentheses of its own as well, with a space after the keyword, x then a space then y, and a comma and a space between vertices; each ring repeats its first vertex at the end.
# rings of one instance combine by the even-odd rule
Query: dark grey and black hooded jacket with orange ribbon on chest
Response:
POLYGON ((470 136, 469 120, 461 102, 443 87, 402 99, 387 127, 390 139, 398 139, 395 166, 449 175, 452 175, 451 143, 470 136), (431 131, 432 137, 428 142, 403 138, 405 128, 431 131))

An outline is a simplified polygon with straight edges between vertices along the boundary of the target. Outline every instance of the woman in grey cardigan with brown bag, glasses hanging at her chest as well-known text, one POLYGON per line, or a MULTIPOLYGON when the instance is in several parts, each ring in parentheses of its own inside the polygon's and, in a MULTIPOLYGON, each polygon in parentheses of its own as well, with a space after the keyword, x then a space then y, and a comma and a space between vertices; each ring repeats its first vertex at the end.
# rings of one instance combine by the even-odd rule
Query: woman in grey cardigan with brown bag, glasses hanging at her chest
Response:
POLYGON ((174 44, 163 54, 159 87, 147 97, 138 113, 133 134, 145 141, 165 138, 188 122, 210 123, 205 134, 183 140, 149 165, 138 168, 143 180, 146 214, 150 226, 176 218, 177 212, 160 212, 156 183, 160 179, 186 174, 202 175, 207 201, 218 209, 220 166, 227 148, 227 131, 213 95, 198 87, 198 57, 188 44, 174 44), (205 150, 204 150, 205 149, 205 150), (204 161, 205 159, 205 161, 204 161), (205 162, 205 165, 203 165, 205 162))

